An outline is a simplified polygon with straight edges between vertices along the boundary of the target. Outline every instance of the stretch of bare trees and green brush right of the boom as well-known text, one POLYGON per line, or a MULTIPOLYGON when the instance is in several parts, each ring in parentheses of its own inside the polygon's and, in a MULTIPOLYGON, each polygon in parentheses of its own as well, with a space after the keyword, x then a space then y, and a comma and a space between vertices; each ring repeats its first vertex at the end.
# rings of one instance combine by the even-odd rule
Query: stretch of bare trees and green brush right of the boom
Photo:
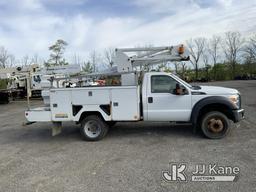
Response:
POLYGON ((190 39, 186 44, 195 80, 227 80, 256 75, 256 34, 244 38, 239 32, 226 32, 210 39, 190 39))

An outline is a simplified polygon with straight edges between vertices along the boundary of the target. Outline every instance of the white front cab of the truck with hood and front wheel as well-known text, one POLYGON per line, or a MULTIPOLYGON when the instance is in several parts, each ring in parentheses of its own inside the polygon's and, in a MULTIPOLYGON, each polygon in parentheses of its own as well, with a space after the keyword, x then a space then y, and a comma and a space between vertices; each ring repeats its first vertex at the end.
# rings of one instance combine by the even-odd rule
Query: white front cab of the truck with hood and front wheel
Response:
POLYGON ((188 122, 208 138, 222 138, 230 120, 244 118, 236 89, 192 86, 176 75, 153 72, 144 76, 142 90, 145 121, 188 122))

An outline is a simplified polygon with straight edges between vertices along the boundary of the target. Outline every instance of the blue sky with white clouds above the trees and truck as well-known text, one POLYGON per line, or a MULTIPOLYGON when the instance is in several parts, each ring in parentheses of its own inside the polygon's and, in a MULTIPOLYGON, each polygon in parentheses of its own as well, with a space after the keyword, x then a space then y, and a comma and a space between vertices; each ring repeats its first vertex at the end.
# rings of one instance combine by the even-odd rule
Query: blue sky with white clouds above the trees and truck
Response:
POLYGON ((0 0, 0 46, 48 58, 57 39, 66 57, 107 47, 171 45, 225 31, 256 32, 256 0, 0 0))

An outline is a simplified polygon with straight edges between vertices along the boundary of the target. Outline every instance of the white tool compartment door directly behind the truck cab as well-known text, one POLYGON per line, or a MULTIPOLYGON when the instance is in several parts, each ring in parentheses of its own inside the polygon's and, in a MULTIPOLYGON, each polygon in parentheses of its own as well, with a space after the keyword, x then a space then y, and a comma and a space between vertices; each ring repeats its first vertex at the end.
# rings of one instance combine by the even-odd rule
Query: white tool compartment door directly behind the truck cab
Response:
POLYGON ((140 119, 139 92, 137 87, 111 90, 111 115, 114 121, 137 121, 140 119))

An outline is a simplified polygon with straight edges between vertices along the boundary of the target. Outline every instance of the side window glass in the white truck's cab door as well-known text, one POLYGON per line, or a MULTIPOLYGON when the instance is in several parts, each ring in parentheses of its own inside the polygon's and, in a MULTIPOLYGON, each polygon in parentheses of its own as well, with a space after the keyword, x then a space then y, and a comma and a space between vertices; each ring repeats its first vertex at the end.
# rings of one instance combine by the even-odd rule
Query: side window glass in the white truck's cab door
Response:
POLYGON ((178 82, 167 75, 151 76, 151 93, 174 93, 178 82))

